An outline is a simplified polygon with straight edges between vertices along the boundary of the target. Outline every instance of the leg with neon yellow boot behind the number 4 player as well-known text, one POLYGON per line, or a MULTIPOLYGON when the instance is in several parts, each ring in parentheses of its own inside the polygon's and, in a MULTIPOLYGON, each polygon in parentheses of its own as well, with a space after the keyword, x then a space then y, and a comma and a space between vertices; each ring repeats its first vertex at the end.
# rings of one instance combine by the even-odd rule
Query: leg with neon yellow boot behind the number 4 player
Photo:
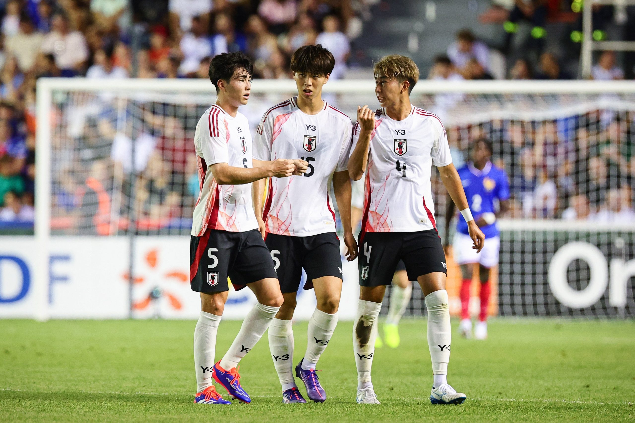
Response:
POLYGON ((392 275, 391 303, 384 323, 384 341, 390 348, 397 348, 401 342, 399 339, 399 320, 408 308, 411 296, 412 283, 408 280, 405 264, 403 261, 399 261, 397 270, 392 275))

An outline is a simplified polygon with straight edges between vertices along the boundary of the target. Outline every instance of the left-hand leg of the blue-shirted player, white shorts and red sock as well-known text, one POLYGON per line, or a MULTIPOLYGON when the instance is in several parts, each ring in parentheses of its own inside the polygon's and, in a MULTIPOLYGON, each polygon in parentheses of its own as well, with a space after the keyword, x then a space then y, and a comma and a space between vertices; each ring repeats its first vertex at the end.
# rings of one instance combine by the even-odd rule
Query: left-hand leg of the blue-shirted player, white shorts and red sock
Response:
POLYGON ((454 235, 452 251, 455 261, 461 268, 461 323, 458 325, 458 332, 466 338, 472 335, 472 320, 470 318, 470 286, 472 284, 472 271, 474 263, 478 262, 478 254, 472 249, 472 238, 465 233, 457 232, 454 235))

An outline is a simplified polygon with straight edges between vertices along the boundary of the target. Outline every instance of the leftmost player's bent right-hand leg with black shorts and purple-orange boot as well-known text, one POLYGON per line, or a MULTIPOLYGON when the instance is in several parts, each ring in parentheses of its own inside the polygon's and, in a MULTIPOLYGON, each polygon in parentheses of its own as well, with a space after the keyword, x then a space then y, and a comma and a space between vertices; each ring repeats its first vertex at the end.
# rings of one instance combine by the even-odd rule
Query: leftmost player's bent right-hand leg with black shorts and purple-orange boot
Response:
POLYGON ((234 342, 214 366, 214 379, 240 401, 251 398, 240 384, 238 363, 249 353, 276 316, 283 296, 269 250, 257 230, 241 233, 239 251, 229 275, 235 286, 247 285, 255 294, 257 303, 243 320, 234 342))

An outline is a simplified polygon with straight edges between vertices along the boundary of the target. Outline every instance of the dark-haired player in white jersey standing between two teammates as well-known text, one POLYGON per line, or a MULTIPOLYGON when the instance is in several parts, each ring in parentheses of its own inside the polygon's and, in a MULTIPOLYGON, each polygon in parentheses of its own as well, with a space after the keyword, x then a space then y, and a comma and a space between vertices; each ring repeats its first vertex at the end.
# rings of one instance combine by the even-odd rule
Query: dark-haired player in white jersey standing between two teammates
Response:
MULTIPOLYGON (((309 320, 306 353, 295 367, 295 374, 304 382, 310 400, 326 400, 316 365, 337 325, 342 292, 340 242, 335 235, 335 212, 328 195, 331 179, 349 261, 357 254, 351 229, 351 179, 347 171, 351 119, 321 96, 334 63, 331 52, 319 44, 295 51, 291 70, 298 95, 265 112, 254 140, 256 159, 299 157, 309 166, 304 176, 269 179, 260 221, 284 297, 269 327, 269 348, 284 403, 306 402, 297 389, 292 367, 291 319, 302 268, 307 273, 304 289, 314 289, 317 308, 309 320)), ((258 186, 262 192, 263 181, 258 186)), ((260 215, 260 207, 256 211, 260 215)))

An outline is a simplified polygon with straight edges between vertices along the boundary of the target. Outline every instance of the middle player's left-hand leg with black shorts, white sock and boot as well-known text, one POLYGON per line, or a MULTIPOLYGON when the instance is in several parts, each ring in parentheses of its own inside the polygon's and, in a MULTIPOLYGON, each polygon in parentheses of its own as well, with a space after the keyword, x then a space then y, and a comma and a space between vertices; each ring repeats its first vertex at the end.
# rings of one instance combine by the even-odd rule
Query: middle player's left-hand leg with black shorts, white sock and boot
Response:
POLYGON ((305 403, 293 379, 293 312, 302 277, 295 237, 269 233, 265 244, 276 257, 276 272, 283 304, 269 326, 269 351, 282 386, 283 403, 305 403))

